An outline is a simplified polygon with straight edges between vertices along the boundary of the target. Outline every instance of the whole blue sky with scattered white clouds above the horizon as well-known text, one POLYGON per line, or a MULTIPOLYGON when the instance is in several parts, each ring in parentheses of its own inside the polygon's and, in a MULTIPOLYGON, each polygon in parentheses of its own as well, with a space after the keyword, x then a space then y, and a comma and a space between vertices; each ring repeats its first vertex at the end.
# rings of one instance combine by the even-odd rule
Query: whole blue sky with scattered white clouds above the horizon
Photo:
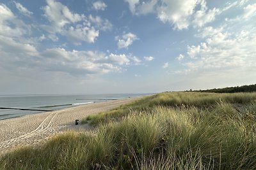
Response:
POLYGON ((255 0, 0 1, 0 95, 150 93, 255 80, 255 0))

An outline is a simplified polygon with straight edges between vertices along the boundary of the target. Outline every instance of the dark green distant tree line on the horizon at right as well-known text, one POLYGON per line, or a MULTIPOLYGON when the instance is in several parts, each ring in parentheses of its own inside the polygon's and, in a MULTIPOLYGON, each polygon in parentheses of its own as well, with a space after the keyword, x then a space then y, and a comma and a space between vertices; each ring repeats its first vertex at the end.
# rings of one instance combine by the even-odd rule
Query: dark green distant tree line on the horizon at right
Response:
POLYGON ((236 93, 236 92, 256 92, 255 85, 243 85, 237 87, 225 87, 221 89, 194 90, 194 92, 213 92, 213 93, 236 93))

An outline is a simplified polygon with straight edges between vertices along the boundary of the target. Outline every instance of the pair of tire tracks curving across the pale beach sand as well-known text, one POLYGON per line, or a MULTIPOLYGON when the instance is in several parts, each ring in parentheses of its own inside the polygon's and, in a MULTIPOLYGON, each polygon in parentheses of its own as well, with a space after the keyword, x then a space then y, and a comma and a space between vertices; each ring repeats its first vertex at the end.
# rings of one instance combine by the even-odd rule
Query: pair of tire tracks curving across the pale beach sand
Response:
POLYGON ((52 120, 60 113, 61 111, 54 111, 50 115, 48 115, 38 127, 36 127, 35 130, 28 132, 26 134, 22 134, 21 136, 18 136, 16 138, 8 139, 6 141, 0 142, 0 148, 4 147, 7 148, 8 146, 14 144, 14 143, 19 143, 22 141, 22 139, 28 139, 28 138, 33 138, 36 134, 39 134, 40 132, 47 131, 49 127, 51 126, 52 120))

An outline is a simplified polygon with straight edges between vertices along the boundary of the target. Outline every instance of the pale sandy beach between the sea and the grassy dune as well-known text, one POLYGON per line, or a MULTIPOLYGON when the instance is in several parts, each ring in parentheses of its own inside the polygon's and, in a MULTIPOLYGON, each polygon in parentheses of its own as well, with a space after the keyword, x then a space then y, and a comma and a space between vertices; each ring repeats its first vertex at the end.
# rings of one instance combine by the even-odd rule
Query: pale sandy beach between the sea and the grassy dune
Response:
POLYGON ((59 132, 88 129, 88 125, 80 124, 82 118, 101 111, 111 110, 139 98, 86 104, 63 110, 0 120, 0 153, 11 150, 17 145, 35 145, 46 141, 52 134, 59 132), (76 119, 79 119, 79 125, 75 125, 76 119))

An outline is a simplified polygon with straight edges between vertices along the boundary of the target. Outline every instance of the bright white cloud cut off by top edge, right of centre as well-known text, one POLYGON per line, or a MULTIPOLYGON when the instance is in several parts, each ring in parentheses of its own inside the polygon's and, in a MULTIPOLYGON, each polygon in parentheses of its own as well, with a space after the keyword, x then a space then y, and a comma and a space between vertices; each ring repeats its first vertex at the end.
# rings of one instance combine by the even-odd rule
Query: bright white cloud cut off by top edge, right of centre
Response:
POLYGON ((188 29, 189 25, 202 27, 221 13, 218 8, 208 10, 205 0, 161 0, 157 9, 158 18, 178 30, 188 29))

